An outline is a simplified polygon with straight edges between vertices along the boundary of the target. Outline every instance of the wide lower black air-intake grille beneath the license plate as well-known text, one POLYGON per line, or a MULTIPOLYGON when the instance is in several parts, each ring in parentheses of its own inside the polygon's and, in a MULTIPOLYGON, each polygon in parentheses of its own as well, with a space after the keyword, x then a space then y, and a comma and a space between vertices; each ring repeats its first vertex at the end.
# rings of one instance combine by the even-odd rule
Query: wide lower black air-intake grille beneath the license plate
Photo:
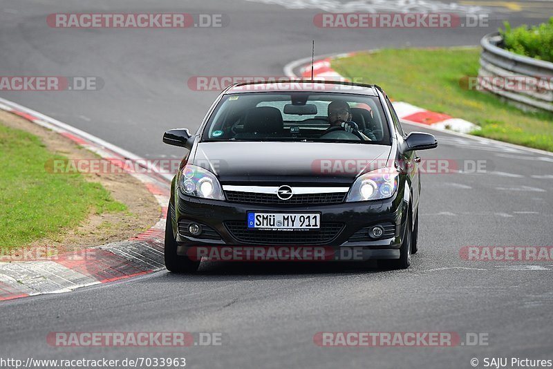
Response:
POLYGON ((248 229, 246 222, 232 220, 225 222, 229 233, 242 243, 259 245, 320 245, 334 240, 344 229, 342 223, 321 223, 321 228, 307 231, 274 231, 248 229))

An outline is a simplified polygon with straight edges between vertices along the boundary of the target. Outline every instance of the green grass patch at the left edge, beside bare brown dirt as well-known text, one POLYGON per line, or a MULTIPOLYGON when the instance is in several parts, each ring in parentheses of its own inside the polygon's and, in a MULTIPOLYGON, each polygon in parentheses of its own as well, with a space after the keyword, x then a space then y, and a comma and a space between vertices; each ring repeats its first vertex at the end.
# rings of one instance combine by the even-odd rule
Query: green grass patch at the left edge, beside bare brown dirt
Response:
POLYGON ((100 183, 82 174, 48 173, 50 153, 35 135, 0 122, 0 249, 56 238, 79 225, 91 211, 125 211, 100 183))

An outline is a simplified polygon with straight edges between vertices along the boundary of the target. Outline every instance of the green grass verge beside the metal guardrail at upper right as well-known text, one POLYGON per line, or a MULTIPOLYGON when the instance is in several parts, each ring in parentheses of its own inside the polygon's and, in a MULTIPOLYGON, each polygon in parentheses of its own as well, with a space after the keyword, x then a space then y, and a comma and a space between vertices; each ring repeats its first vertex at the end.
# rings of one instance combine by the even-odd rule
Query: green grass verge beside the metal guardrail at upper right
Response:
POLYGON ((386 49, 332 61, 344 77, 378 84, 392 99, 478 124, 495 140, 553 151, 553 113, 527 113, 460 81, 478 75, 480 48, 386 49))

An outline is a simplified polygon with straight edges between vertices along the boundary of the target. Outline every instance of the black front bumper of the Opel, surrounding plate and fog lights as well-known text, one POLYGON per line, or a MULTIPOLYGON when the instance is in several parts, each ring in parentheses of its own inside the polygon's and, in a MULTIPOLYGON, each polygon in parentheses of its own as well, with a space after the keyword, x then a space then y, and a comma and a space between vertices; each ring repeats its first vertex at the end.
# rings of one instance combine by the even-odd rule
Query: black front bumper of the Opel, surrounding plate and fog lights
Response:
MULTIPOLYGON (((402 244, 402 235, 404 234, 406 218, 404 215, 408 210, 409 204, 404 201, 403 189, 400 187, 392 198, 386 200, 375 200, 371 202, 344 202, 335 205, 298 205, 298 206, 279 206, 279 205, 256 205, 242 204, 219 200, 207 200, 193 198, 183 195, 178 189, 174 191, 171 199, 171 221, 175 230, 175 239, 178 243, 177 254, 186 255, 191 247, 287 247, 287 246, 323 246, 326 249, 334 249, 339 252, 343 249, 362 250, 364 259, 375 258, 399 258, 400 246, 402 244), (318 212, 321 214, 321 228, 325 224, 337 225, 341 228, 335 232, 331 239, 317 242, 308 242, 307 238, 301 238, 303 243, 294 243, 294 239, 286 240, 283 243, 272 243, 264 239, 263 242, 245 241, 236 236, 236 232, 229 228, 229 223, 246 224, 247 213, 257 212, 318 212), (182 224, 194 222, 205 225, 210 238, 206 236, 194 237, 186 234, 182 224), (242 223, 243 222, 243 223, 242 223), (181 225, 179 229, 179 223, 181 225), (363 229, 373 225, 393 225, 392 234, 387 234, 379 239, 372 239, 368 236, 359 237, 363 229)), ((249 230, 247 232, 256 232, 249 230)), ((272 231, 285 232, 285 231, 272 231)), ((308 236, 303 231, 301 236, 308 236)), ((280 235, 277 235, 280 236, 280 235)), ((278 237, 277 237, 278 238, 278 237)))

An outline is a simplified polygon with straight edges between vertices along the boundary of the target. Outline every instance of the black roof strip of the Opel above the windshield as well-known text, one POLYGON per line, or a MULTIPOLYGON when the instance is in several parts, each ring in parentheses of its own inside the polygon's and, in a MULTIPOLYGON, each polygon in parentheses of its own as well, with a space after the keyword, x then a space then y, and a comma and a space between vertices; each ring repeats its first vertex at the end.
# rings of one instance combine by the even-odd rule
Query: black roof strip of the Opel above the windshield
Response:
POLYGON ((355 93, 359 95, 377 96, 373 84, 359 84, 348 81, 321 81, 312 79, 274 79, 268 81, 240 82, 228 86, 223 93, 252 92, 317 92, 317 93, 355 93))

